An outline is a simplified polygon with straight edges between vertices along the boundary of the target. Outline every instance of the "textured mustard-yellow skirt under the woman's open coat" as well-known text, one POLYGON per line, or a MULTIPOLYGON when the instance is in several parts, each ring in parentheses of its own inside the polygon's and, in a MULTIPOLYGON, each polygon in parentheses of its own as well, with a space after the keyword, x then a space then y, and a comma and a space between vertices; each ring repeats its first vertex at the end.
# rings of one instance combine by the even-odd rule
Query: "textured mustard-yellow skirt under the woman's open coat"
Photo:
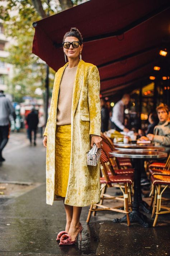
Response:
POLYGON ((66 197, 71 154, 71 124, 56 127, 55 195, 66 197))

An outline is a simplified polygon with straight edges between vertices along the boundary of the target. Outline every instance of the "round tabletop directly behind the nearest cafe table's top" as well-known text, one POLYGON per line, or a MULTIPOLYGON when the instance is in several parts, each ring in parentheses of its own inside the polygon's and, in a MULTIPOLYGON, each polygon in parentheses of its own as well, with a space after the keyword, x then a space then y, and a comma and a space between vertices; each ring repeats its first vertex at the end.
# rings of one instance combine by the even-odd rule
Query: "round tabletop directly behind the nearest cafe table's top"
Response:
POLYGON ((129 145, 127 146, 126 144, 124 145, 120 145, 119 147, 115 147, 115 149, 118 149, 118 150, 128 150, 128 151, 131 151, 131 150, 135 150, 135 151, 143 151, 143 150, 149 150, 149 151, 165 151, 165 148, 164 147, 156 147, 156 146, 139 146, 139 145, 136 145, 134 146, 133 144, 132 145, 129 145))

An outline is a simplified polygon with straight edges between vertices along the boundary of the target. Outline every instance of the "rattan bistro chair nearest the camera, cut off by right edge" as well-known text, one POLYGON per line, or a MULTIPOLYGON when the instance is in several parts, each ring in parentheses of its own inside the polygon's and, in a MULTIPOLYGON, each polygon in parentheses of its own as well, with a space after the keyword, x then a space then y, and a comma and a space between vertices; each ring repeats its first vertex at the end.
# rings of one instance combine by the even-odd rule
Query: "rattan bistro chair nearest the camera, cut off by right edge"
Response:
POLYGON ((170 175, 153 174, 151 176, 151 181, 155 187, 154 207, 152 210, 152 217, 156 214, 153 224, 155 227, 159 214, 170 213, 170 207, 161 205, 162 193, 170 185, 170 175), (162 185, 164 185, 164 188, 161 191, 162 185))

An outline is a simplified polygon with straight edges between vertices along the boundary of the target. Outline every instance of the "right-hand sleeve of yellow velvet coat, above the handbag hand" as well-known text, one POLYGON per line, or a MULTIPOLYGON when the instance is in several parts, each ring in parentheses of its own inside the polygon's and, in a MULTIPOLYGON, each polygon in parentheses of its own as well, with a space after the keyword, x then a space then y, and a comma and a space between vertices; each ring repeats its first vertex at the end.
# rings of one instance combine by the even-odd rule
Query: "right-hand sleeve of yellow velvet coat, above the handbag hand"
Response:
POLYGON ((89 134, 100 136, 101 107, 100 107, 100 77, 96 66, 90 70, 88 77, 88 107, 90 116, 89 134))

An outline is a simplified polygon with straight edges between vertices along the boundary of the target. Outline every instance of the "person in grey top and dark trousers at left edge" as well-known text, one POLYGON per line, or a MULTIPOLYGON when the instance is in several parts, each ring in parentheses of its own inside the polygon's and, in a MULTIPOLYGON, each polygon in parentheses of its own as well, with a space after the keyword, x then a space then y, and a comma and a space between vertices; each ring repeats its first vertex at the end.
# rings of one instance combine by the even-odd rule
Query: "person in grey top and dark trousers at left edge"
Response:
POLYGON ((4 91, 0 90, 0 162, 5 161, 2 151, 8 142, 9 135, 9 116, 13 115, 15 119, 15 109, 10 100, 5 97, 4 91))

